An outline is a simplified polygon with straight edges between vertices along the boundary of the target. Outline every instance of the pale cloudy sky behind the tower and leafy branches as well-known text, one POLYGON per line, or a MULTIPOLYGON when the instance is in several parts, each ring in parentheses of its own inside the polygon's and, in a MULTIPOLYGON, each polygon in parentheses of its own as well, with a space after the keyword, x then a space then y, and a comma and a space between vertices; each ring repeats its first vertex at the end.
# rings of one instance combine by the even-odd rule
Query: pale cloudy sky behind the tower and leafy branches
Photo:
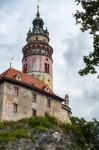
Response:
MULTIPOLYGON (((36 0, 0 0, 0 73, 10 66, 22 69, 22 48, 36 15, 36 0)), ((54 91, 69 95, 73 116, 99 120, 99 80, 96 75, 81 77, 83 56, 92 50, 92 38, 80 31, 73 14, 74 0, 41 0, 40 14, 50 33, 54 49, 54 91)))

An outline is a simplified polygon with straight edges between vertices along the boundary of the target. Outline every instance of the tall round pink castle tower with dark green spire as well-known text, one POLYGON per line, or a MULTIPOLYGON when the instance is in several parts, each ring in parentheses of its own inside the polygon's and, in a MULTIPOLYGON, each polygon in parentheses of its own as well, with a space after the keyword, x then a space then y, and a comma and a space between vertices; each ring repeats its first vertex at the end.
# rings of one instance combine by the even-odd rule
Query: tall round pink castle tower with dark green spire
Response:
POLYGON ((22 71, 43 80, 53 89, 53 49, 49 45, 49 32, 44 29, 44 22, 40 18, 37 6, 36 18, 33 20, 33 29, 27 34, 27 44, 23 47, 22 71))

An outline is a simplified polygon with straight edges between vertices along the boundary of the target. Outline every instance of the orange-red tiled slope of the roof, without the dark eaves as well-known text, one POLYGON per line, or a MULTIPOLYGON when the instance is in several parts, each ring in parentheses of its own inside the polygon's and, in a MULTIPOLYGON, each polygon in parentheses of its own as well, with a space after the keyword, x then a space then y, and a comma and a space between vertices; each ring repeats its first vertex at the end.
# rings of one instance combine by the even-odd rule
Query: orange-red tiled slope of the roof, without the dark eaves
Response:
MULTIPOLYGON (((32 75, 27 75, 26 73, 23 73, 23 72, 16 70, 14 68, 9 68, 5 72, 3 72, 0 76, 16 80, 16 81, 19 81, 21 83, 25 83, 27 85, 34 86, 34 87, 41 89, 41 90, 43 90, 44 87, 46 86, 46 84, 43 81, 33 77, 32 75), (17 79, 18 76, 20 77, 19 80, 17 79)), ((49 93, 53 93, 51 89, 49 89, 49 93)))

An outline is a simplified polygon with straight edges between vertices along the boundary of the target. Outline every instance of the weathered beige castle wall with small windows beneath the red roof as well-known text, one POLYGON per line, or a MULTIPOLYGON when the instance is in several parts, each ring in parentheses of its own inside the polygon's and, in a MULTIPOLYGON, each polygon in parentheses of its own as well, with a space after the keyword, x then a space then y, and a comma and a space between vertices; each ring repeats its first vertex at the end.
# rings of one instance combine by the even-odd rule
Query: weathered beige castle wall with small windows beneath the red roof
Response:
POLYGON ((60 121, 70 121, 68 112, 62 109, 58 100, 23 86, 4 83, 2 120, 16 121, 22 118, 29 118, 33 115, 33 110, 36 110, 37 116, 44 116, 45 113, 49 113, 60 121), (16 89, 18 89, 18 95, 16 89), (35 102, 33 94, 36 94, 35 102), (48 107, 49 100, 50 107, 48 107), (17 106, 17 112, 15 112, 15 105, 17 106))

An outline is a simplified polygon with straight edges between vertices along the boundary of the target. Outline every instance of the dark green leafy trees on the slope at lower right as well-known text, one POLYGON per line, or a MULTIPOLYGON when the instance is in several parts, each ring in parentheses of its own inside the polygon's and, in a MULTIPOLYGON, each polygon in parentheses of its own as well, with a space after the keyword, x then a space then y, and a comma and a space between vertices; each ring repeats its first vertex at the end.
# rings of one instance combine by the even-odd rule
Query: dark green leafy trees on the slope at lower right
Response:
POLYGON ((84 137, 85 143, 91 150, 99 149, 99 121, 93 119, 87 122, 84 118, 72 117, 72 125, 80 131, 80 136, 84 137))

